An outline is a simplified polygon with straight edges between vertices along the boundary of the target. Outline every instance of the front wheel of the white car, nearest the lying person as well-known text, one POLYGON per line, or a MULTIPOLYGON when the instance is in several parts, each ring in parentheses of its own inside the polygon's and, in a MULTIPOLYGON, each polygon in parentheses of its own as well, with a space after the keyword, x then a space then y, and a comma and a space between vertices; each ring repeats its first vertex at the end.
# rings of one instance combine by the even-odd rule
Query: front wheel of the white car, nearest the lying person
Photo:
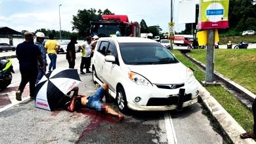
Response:
POLYGON ((117 94, 116 101, 117 101, 119 110, 122 113, 126 113, 128 111, 127 100, 126 100, 126 96, 125 96, 125 90, 123 90, 122 86, 119 86, 117 88, 116 94, 117 94))

